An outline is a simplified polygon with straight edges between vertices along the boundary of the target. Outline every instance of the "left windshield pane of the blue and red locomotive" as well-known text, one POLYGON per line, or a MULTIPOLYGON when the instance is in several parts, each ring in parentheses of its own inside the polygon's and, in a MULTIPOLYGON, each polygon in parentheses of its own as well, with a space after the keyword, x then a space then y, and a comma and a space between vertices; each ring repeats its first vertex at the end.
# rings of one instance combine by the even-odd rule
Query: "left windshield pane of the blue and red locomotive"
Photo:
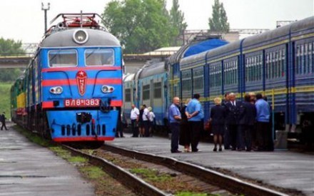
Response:
POLYGON ((50 67, 75 67, 77 66, 76 50, 53 50, 49 51, 50 67))

